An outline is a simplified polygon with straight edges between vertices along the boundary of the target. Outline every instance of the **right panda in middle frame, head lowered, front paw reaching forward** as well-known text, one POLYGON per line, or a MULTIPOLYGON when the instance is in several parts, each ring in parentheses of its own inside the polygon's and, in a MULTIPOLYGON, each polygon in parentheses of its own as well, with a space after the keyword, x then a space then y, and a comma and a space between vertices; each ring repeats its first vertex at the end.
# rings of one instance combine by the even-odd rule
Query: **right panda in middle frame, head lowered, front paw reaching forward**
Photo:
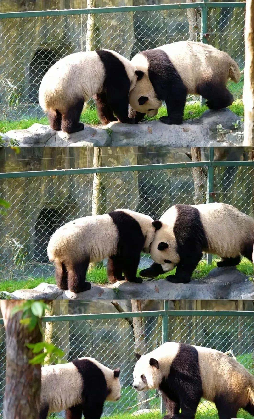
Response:
POLYGON ((177 204, 153 222, 156 233, 150 247, 153 263, 140 272, 154 277, 171 271, 169 282, 190 282, 202 252, 222 258, 218 266, 236 266, 241 257, 252 260, 254 220, 228 204, 177 204))

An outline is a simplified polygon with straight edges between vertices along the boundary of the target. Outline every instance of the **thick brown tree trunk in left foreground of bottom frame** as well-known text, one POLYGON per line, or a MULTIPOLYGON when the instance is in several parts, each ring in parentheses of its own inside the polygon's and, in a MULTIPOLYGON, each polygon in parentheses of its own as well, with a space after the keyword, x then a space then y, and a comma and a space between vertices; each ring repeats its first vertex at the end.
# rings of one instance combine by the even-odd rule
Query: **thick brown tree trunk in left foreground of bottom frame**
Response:
POLYGON ((34 357, 28 343, 41 341, 41 332, 36 326, 29 331, 20 324, 21 312, 10 318, 15 305, 23 301, 0 302, 6 333, 6 379, 3 405, 4 419, 38 419, 41 391, 41 365, 31 365, 34 357))

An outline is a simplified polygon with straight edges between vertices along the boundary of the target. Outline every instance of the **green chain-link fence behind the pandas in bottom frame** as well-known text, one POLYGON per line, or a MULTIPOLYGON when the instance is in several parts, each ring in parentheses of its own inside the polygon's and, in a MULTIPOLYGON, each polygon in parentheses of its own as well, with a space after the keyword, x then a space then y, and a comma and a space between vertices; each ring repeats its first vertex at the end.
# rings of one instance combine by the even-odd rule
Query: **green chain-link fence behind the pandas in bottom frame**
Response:
MULTIPOLYGON (((65 351, 64 362, 92 356, 110 368, 120 367, 122 398, 115 403, 105 403, 105 416, 132 414, 143 409, 161 409, 163 413, 163 404, 157 391, 148 391, 140 395, 132 388, 132 372, 135 352, 149 352, 166 341, 202 345, 222 352, 231 350, 236 359, 254 373, 253 311, 175 311, 168 310, 167 304, 165 301, 164 310, 156 311, 42 318, 44 339, 65 351)), ((2 319, 0 336, 1 410, 5 377, 2 319)), ((204 419, 216 411, 213 403, 207 401, 202 401, 198 409, 200 417, 204 419)))

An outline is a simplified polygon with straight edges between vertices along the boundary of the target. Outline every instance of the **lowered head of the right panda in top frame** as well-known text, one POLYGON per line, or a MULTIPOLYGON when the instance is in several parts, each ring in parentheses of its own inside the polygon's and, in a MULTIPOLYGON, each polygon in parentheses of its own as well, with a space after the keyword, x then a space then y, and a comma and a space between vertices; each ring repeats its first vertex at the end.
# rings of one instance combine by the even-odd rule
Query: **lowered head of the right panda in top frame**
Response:
POLYGON ((132 109, 152 117, 158 114, 162 103, 157 98, 153 85, 145 72, 140 80, 137 80, 135 88, 130 91, 129 103, 132 109))

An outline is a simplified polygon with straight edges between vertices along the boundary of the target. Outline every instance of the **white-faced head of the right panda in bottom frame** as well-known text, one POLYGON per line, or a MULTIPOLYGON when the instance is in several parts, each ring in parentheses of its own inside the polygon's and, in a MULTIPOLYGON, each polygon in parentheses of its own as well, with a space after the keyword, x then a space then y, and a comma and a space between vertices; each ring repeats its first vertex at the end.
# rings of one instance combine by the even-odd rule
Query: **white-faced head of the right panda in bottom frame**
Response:
POLYGON ((158 360, 150 354, 136 354, 137 363, 133 371, 133 387, 137 391, 154 390, 159 387, 163 378, 158 360))

